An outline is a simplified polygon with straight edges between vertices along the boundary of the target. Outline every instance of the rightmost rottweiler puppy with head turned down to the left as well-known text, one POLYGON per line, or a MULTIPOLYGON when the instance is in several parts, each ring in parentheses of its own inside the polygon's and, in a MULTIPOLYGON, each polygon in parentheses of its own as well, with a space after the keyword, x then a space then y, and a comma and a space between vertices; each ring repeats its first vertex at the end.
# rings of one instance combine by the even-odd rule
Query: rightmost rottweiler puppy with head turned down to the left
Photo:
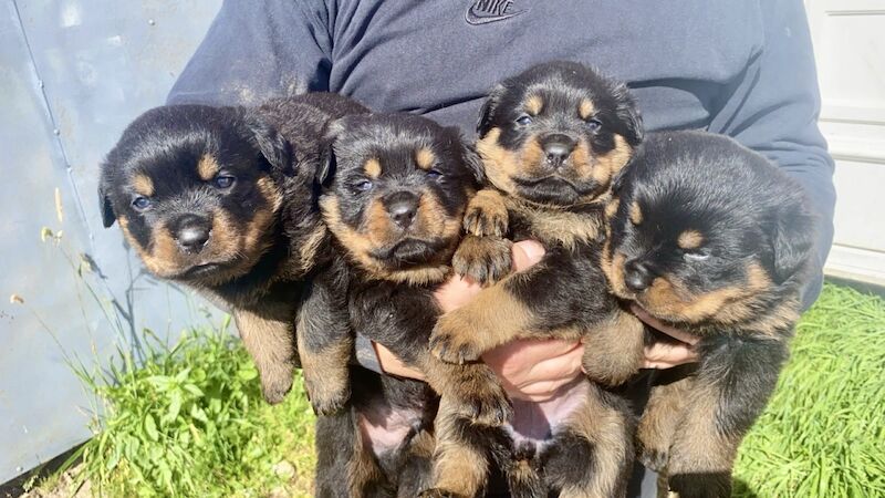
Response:
MULTIPOLYGON (((738 445, 799 319, 812 215, 774 165, 702 132, 652 134, 615 190, 603 252, 612 291, 701 338, 695 369, 657 374, 639 421, 642 461, 681 498, 729 497, 738 445)), ((623 339, 635 330, 621 332, 621 346, 636 342, 623 339)), ((617 338, 604 354, 639 353, 616 351, 617 338)))

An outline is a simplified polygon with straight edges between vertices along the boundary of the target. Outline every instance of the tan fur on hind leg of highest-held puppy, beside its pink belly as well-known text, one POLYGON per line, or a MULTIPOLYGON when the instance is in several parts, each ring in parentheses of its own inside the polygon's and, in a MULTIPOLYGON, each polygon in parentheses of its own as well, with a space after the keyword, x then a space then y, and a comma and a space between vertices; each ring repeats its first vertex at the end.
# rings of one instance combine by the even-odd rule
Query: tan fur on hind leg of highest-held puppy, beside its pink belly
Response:
POLYGON ((593 447, 593 477, 575 487, 566 487, 563 498, 610 498, 618 496, 618 481, 633 458, 629 422, 602 402, 600 388, 587 383, 582 406, 572 411, 565 425, 583 436, 593 447))

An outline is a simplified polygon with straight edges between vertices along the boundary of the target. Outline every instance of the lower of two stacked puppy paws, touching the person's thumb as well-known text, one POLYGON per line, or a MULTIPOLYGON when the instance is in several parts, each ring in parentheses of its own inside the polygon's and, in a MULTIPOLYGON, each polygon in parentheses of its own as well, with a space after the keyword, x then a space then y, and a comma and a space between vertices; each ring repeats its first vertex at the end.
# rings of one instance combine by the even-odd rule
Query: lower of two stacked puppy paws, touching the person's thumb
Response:
POLYGON ((494 283, 510 272, 512 246, 500 237, 465 236, 451 258, 451 268, 482 286, 494 283))

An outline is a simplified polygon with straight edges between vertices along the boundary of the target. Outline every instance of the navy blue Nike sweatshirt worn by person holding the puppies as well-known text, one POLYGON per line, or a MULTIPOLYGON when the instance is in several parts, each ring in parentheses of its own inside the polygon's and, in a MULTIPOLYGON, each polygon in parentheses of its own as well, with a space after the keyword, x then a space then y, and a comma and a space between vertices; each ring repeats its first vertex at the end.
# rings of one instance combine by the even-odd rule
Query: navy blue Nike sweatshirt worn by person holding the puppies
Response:
POLYGON ((802 0, 227 0, 168 102, 332 91, 472 136, 496 82, 554 59, 628 82, 649 131, 722 133, 799 180, 821 215, 813 302, 835 191, 802 0))

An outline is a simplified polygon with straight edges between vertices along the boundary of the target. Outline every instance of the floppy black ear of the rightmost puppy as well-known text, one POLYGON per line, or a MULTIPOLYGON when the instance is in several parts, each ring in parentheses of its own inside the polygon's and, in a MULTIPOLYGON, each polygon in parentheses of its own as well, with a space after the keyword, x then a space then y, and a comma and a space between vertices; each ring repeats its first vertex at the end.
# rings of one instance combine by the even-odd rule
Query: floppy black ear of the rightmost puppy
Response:
POLYGON ((804 204, 778 211, 771 225, 774 278, 783 283, 802 269, 814 249, 816 217, 804 204))

